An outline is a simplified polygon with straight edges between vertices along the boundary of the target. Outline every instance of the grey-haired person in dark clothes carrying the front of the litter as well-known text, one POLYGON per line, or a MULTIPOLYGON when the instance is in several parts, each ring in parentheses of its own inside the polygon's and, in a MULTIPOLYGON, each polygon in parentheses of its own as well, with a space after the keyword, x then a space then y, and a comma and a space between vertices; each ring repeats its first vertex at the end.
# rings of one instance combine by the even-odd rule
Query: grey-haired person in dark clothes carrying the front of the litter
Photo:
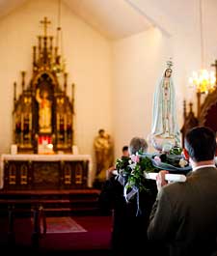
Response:
MULTIPOLYGON (((134 137, 129 143, 130 156, 139 151, 147 153, 148 143, 145 139, 134 137)), ((130 156, 128 160, 130 160, 130 156)), ((125 156, 126 157, 126 156, 125 156)), ((126 157, 127 160, 127 157, 126 157)), ((140 214, 138 213, 138 201, 135 196, 127 202, 123 195, 124 185, 118 176, 112 175, 111 169, 109 179, 103 185, 99 195, 99 206, 101 213, 113 213, 113 230, 111 237, 112 255, 133 255, 146 249, 146 255, 150 248, 147 240, 147 227, 149 213, 155 201, 157 188, 154 181, 146 180, 147 190, 139 192, 140 214)), ((145 178, 144 178, 145 180, 145 178)))

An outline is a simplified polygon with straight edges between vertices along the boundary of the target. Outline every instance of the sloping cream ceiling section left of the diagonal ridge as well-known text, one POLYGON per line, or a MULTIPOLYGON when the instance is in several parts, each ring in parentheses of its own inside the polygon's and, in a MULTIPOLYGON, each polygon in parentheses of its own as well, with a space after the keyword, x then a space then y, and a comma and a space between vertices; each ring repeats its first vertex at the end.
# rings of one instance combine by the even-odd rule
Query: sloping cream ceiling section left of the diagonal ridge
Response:
POLYGON ((64 0, 74 14, 109 39, 120 39, 148 30, 149 19, 125 0, 64 0))

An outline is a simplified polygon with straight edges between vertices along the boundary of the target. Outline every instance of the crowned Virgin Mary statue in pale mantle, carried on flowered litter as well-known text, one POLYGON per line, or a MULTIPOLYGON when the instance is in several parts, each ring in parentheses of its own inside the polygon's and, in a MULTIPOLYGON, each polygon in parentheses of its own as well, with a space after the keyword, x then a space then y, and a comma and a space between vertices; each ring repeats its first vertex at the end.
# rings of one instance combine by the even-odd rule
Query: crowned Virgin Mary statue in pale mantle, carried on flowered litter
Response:
POLYGON ((176 121, 176 92, 171 67, 172 62, 167 62, 167 68, 155 87, 153 98, 150 143, 158 151, 164 151, 164 147, 180 146, 180 130, 176 121))

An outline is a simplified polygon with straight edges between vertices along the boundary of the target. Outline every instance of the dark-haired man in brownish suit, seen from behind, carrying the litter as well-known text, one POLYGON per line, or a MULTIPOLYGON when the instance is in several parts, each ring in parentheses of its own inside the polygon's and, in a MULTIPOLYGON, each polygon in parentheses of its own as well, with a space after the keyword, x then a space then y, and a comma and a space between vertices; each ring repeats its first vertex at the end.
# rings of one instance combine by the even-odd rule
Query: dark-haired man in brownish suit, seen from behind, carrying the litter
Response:
POLYGON ((148 238, 164 242, 171 256, 210 256, 216 251, 217 168, 216 136, 197 127, 185 136, 185 157, 192 172, 185 183, 167 185, 160 171, 158 195, 149 217, 148 238))

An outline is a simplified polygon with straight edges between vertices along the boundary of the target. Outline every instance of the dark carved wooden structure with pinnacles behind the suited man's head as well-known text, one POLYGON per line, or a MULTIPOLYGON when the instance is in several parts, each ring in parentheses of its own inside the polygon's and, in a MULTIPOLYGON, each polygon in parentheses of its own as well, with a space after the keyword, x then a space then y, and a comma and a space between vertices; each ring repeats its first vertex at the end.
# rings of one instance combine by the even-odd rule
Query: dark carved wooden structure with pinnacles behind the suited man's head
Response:
POLYGON ((189 103, 189 111, 187 111, 186 100, 184 100, 184 124, 181 128, 182 147, 184 147, 184 136, 189 128, 206 126, 212 128, 214 131, 217 131, 217 60, 212 66, 214 66, 216 69, 216 86, 215 89, 208 94, 202 94, 200 91, 197 92, 196 114, 193 111, 193 103, 189 103))

